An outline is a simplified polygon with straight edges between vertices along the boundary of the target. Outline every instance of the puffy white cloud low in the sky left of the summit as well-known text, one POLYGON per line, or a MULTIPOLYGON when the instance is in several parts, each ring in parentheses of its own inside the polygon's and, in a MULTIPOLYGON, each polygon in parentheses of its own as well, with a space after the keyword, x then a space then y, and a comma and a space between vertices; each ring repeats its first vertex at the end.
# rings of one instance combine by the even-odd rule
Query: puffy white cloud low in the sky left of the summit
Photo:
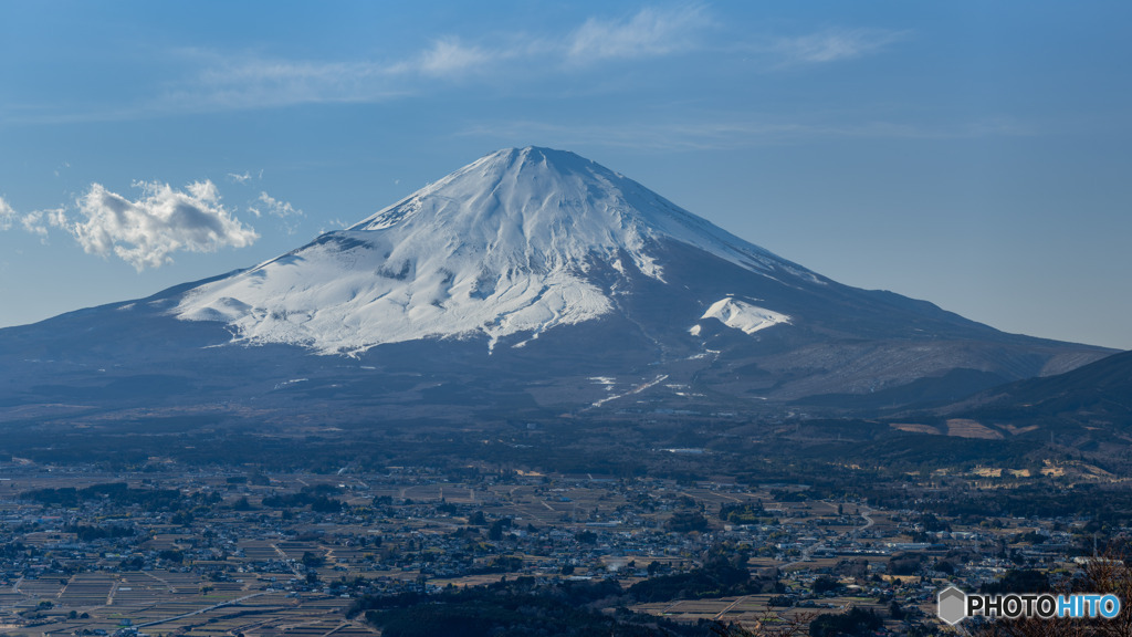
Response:
POLYGON ((113 253, 138 271, 172 261, 175 252, 214 252, 245 247, 259 238, 220 203, 212 181, 189 184, 185 192, 168 184, 137 181, 142 197, 130 201, 93 184, 79 199, 85 221, 59 224, 91 254, 113 253))

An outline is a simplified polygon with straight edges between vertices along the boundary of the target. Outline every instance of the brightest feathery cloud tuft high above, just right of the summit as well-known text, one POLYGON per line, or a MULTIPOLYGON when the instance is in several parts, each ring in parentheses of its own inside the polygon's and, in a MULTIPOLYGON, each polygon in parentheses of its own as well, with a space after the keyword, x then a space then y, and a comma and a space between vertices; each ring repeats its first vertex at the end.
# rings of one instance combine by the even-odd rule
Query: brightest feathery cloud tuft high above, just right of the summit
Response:
POLYGON ((590 18, 568 40, 573 61, 664 56, 694 44, 697 31, 710 20, 704 9, 642 9, 628 20, 590 18))

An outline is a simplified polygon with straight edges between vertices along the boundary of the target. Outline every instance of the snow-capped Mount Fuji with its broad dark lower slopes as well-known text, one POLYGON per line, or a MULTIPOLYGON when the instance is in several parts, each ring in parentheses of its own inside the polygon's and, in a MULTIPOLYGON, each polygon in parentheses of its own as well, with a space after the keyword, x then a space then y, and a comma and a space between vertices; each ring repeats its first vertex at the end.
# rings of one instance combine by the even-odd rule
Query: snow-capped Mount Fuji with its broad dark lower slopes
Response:
POLYGON ((0 419, 900 408, 1109 353, 840 284, 526 147, 255 267, 0 330, 0 419))

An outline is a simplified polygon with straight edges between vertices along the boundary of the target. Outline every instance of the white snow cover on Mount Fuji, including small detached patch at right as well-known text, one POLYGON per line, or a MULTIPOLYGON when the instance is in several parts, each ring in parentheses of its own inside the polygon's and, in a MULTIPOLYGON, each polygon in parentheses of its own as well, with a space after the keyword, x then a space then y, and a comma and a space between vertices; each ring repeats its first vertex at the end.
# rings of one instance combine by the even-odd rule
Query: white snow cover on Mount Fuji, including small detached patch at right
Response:
MULTIPOLYGON (((223 321, 239 341, 321 354, 478 334, 492 348, 611 312, 586 278, 598 263, 663 281, 657 248, 666 240, 764 277, 825 283, 594 162, 528 147, 487 155, 346 230, 201 286, 174 314, 223 321)), ((748 333, 784 318, 724 305, 717 312, 730 318, 721 320, 748 333)))

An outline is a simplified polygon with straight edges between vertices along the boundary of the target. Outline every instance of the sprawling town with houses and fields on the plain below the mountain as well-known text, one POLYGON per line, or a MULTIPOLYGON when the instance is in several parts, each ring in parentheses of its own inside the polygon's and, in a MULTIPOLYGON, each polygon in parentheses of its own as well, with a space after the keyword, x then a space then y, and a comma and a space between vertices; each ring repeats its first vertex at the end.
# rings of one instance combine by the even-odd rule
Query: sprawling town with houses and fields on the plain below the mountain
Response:
MULTIPOLYGON (((989 493, 1058 472, 979 467, 950 484, 989 493)), ((924 501, 941 479, 903 489, 924 501)), ((929 635, 944 586, 1048 585, 1097 550, 1081 516, 926 509, 720 476, 14 459, 0 464, 0 634, 372 635, 365 600, 532 578, 616 583, 618 605, 680 623, 867 611, 868 634, 929 635), (713 577, 713 557, 745 571, 713 577)))

